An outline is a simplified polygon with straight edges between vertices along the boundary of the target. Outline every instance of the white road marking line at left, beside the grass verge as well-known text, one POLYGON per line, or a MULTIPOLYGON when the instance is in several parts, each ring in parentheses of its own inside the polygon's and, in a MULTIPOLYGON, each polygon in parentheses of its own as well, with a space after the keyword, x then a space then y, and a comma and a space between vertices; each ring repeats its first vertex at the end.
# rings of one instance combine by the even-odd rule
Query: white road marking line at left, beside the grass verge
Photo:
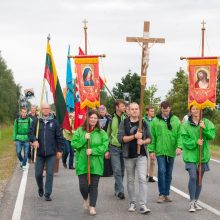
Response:
POLYGON ((23 207, 23 202, 24 202, 24 194, 25 194, 25 189, 26 189, 26 184, 27 184, 27 176, 28 176, 28 169, 29 169, 29 164, 27 164, 26 170, 23 171, 23 175, 21 178, 21 183, 15 203, 15 208, 14 212, 12 215, 12 220, 20 220, 21 219, 21 212, 22 212, 22 207, 23 207))

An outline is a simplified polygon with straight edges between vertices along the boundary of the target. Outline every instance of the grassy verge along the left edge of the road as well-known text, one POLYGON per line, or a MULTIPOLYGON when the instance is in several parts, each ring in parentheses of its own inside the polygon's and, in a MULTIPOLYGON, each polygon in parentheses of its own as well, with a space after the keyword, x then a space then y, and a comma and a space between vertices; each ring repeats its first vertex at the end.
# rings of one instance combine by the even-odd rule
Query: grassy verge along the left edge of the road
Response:
POLYGON ((15 146, 12 141, 12 127, 4 127, 1 129, 0 136, 0 198, 16 162, 15 146))

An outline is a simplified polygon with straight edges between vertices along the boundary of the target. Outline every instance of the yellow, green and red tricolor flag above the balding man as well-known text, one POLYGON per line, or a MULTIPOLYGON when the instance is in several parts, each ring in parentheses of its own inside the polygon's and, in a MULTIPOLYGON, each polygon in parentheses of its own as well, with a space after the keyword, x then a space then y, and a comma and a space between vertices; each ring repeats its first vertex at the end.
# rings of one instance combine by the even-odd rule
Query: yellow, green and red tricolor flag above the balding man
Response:
POLYGON ((56 107, 56 118, 60 126, 64 129, 72 131, 69 123, 69 116, 66 109, 66 103, 63 97, 60 82, 57 77, 57 71, 54 64, 50 43, 47 43, 46 64, 44 70, 44 78, 50 85, 50 90, 53 93, 54 105, 56 107))

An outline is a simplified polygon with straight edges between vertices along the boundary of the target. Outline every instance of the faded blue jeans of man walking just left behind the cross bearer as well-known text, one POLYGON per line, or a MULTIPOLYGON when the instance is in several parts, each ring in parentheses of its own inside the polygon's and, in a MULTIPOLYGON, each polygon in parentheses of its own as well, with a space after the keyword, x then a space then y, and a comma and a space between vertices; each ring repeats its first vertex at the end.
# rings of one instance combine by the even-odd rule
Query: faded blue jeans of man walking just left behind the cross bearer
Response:
POLYGON ((118 196, 119 193, 124 193, 123 178, 125 166, 122 149, 120 147, 110 145, 109 152, 111 156, 113 175, 115 178, 115 195, 118 196))

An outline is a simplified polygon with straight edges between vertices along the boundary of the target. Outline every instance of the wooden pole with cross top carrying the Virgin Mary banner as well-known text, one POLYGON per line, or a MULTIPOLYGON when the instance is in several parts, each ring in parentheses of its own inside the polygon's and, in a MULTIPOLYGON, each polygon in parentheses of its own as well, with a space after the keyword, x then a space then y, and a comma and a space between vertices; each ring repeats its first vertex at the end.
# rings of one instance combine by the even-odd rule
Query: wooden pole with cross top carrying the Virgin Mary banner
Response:
MULTIPOLYGON (((85 35, 85 55, 87 55, 87 23, 88 21, 85 19, 84 23, 84 35, 85 35)), ((89 108, 86 107, 86 132, 89 133, 89 108)), ((87 140, 87 149, 90 148, 90 140, 87 140)), ((87 156, 88 158, 88 185, 91 183, 91 170, 90 170, 90 155, 87 156)))

